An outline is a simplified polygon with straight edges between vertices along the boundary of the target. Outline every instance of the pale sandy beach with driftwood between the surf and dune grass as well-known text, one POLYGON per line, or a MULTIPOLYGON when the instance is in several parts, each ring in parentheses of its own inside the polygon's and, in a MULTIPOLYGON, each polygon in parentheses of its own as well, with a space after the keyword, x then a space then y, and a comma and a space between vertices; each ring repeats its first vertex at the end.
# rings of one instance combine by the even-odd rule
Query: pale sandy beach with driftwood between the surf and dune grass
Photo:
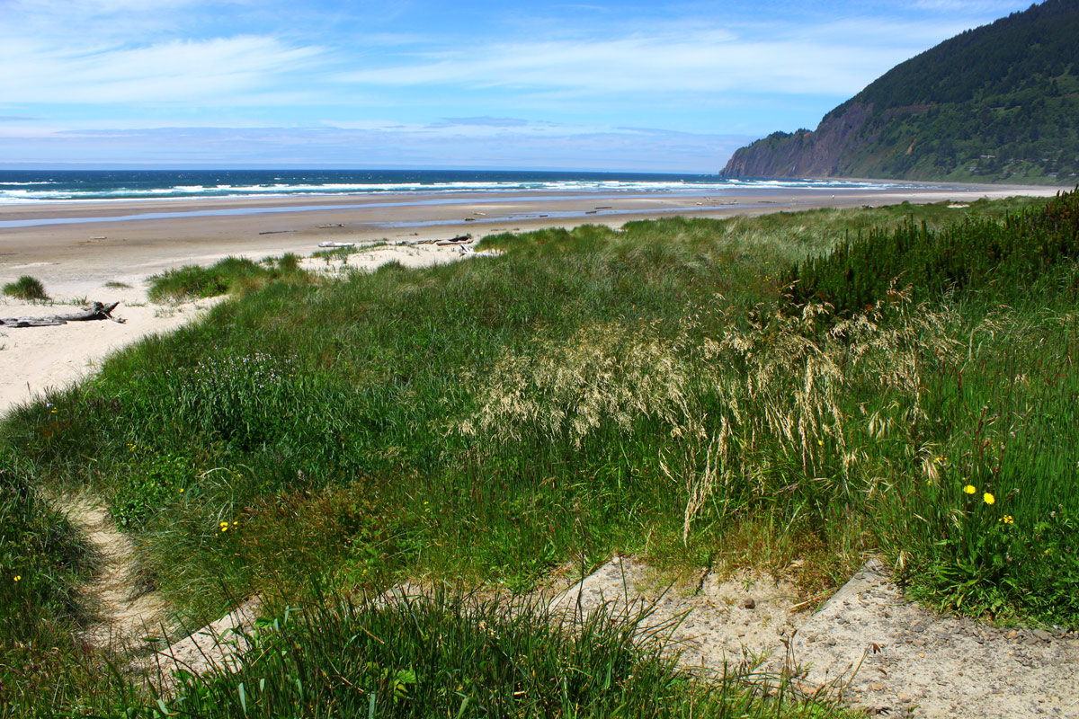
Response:
POLYGON ((686 215, 722 218, 817 207, 859 207, 1012 195, 1051 196, 1057 188, 926 185, 915 189, 753 191, 719 196, 692 193, 452 193, 235 197, 0 206, 0 285, 32 275, 55 304, 0 299, 0 317, 70 312, 83 300, 122 304, 125 323, 0 330, 0 414, 49 387, 74 382, 109 352, 154 332, 169 331, 210 303, 152 305, 146 278, 183 264, 228 255, 260 259, 284 252, 308 257, 319 243, 385 239, 390 247, 354 255, 351 266, 391 260, 409 266, 460 259, 452 247, 396 245, 462 234, 480 237, 544 226, 605 224, 686 215), (120 282, 128 288, 106 286, 120 282))

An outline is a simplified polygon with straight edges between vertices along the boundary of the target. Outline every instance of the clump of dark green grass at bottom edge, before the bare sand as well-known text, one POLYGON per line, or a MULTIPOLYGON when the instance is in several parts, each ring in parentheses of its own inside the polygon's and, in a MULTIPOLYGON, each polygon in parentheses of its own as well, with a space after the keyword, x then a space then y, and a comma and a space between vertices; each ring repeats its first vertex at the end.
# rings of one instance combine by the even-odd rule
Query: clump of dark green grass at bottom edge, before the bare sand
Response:
MULTIPOLYGON (((559 618, 435 593, 382 605, 323 597, 260 621, 236 675, 188 677, 165 708, 217 717, 818 717, 779 676, 712 681, 634 634, 642 616, 559 618), (325 669, 332 667, 331 673, 325 669)), ((147 702, 146 716, 155 703, 147 702)), ((833 716, 839 716, 836 711, 833 716)), ((144 715, 138 715, 144 716, 144 715)))

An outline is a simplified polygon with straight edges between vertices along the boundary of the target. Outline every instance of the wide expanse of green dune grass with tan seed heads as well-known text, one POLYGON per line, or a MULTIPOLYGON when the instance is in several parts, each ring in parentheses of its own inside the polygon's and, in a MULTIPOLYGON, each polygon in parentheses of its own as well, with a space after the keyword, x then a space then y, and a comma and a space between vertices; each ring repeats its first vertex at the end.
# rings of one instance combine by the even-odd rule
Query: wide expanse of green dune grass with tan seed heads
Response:
MULTIPOLYGON (((44 486, 104 496, 190 616, 265 592, 318 607, 415 577, 527 593, 614 552, 683 569, 797 558, 811 596, 879 552, 942 608, 1075 626, 1079 269, 1037 245, 1067 229, 1008 233, 1077 204, 542 230, 484 238, 497 257, 332 281, 235 261, 200 273, 248 289, 17 409, 5 456, 44 486), (861 266, 859 230, 917 268, 962 227, 1015 251, 971 257, 983 279, 966 286, 839 271, 830 296, 857 302, 797 294, 827 258, 861 266), (1029 258, 1037 272, 1016 269, 1029 258)), ((176 287, 201 292, 200 273, 176 287)), ((423 611, 447 602, 457 611, 447 597, 423 611)), ((394 649, 410 651, 414 638, 394 649)), ((365 661, 372 687, 420 673, 365 661)), ((286 669, 270 681, 291 692, 286 669)), ((642 696, 667 696, 660 674, 642 696)), ((199 691, 234 697, 237 681, 252 691, 199 691)), ((304 691, 340 687, 318 682, 304 691)))

